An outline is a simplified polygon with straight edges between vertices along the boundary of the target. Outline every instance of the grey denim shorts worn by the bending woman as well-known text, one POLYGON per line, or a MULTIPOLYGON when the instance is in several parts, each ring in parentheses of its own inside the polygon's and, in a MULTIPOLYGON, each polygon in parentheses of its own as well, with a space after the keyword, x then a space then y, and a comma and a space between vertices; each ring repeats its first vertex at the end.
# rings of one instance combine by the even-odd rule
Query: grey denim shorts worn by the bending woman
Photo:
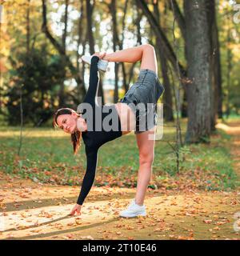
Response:
POLYGON ((126 103, 136 116, 135 134, 150 130, 157 125, 157 102, 164 87, 153 70, 140 70, 138 80, 119 101, 126 103))

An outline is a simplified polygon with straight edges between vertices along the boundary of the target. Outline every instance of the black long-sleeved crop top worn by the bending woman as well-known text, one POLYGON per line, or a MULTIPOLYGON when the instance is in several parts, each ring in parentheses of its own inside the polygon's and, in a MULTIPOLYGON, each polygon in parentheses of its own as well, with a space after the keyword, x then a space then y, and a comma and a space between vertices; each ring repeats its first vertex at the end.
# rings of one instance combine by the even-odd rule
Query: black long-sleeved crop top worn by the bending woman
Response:
POLYGON ((86 152, 86 174, 78 196, 78 205, 82 205, 94 183, 99 147, 122 136, 121 123, 115 106, 98 106, 95 102, 99 84, 98 61, 98 56, 91 58, 89 88, 82 104, 78 106, 78 112, 82 112, 82 118, 86 120, 87 124, 87 131, 82 132, 86 152), (92 110, 88 110, 87 106, 90 106, 92 110), (109 126, 106 126, 107 123, 109 126), (113 124, 116 127, 113 127, 113 124), (113 129, 103 129, 110 126, 113 129))

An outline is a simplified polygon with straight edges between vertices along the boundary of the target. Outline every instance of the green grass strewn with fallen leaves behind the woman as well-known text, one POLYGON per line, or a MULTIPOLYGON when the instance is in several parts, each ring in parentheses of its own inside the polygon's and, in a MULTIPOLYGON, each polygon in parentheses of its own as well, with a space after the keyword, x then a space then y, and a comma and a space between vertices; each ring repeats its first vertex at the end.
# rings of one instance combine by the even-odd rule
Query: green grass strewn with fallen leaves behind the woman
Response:
MULTIPOLYGON (((173 123, 165 123, 162 140, 155 141, 152 183, 171 189, 176 186, 174 182, 187 180, 203 190, 234 189, 237 182, 228 150, 230 136, 217 131, 210 144, 184 146, 180 152, 180 174, 177 174, 176 156, 168 144, 174 144, 173 126, 173 123)), ((184 138, 186 122, 182 122, 182 130, 184 138)), ((68 185, 82 182, 86 169, 83 142, 80 152, 74 156, 68 134, 51 128, 25 128, 19 158, 19 134, 19 127, 0 128, 0 168, 3 172, 37 178, 41 182, 68 185)), ((125 181, 126 186, 135 185, 137 172, 138 147, 133 133, 100 148, 97 174, 102 180, 95 185, 111 185, 115 180, 125 181)))

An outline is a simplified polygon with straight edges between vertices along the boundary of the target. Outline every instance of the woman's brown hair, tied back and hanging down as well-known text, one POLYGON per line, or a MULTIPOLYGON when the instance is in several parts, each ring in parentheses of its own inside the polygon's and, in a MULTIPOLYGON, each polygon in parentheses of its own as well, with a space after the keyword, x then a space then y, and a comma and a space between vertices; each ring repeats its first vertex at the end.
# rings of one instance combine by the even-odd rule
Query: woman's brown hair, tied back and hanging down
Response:
MULTIPOLYGON (((62 109, 57 110, 54 113, 53 126, 59 128, 58 122, 57 122, 57 119, 58 119, 59 115, 61 115, 61 114, 72 114, 73 112, 80 117, 80 114, 78 114, 75 110, 72 110, 72 109, 67 108, 67 107, 64 107, 62 109)), ((74 154, 78 153, 78 150, 79 150, 80 144, 81 144, 80 143, 81 138, 82 138, 82 131, 77 130, 77 131, 74 132, 74 134, 71 134, 71 142, 74 146, 74 154)))

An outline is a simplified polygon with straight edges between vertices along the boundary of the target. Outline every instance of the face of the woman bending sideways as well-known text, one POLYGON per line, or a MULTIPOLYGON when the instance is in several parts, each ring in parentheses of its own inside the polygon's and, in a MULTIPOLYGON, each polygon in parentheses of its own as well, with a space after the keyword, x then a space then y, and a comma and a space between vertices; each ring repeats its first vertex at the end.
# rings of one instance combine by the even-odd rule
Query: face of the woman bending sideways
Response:
POLYGON ((67 134, 73 134, 77 128, 78 116, 72 114, 60 114, 57 118, 58 127, 67 134))

